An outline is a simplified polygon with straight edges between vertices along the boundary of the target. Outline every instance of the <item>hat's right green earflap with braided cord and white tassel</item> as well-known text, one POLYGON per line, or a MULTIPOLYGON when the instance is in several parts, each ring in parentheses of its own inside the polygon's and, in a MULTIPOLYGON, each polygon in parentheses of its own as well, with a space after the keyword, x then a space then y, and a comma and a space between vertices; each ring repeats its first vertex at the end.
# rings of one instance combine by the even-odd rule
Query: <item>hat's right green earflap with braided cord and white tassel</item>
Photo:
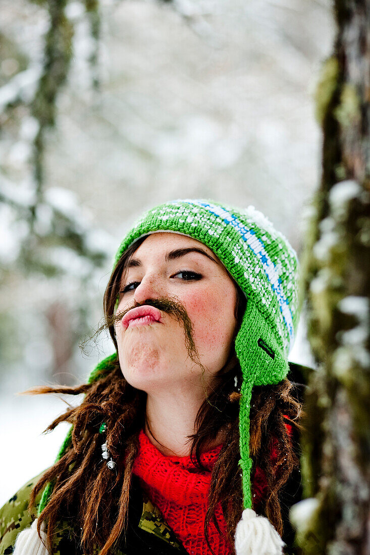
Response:
POLYGON ((242 519, 235 533, 236 555, 281 555, 284 542, 266 517, 252 509, 251 470, 249 457, 249 413, 254 385, 277 384, 288 373, 288 362, 273 330, 258 311, 252 299, 247 302, 241 328, 236 336, 235 351, 242 370, 243 382, 239 406, 239 465, 242 469, 242 519))

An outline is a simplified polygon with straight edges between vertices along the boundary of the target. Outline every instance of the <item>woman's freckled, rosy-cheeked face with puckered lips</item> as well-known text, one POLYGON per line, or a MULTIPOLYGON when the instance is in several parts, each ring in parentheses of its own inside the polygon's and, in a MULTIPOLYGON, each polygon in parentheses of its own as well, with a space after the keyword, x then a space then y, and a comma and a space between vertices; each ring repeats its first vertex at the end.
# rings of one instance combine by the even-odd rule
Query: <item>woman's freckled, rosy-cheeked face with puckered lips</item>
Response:
POLYGON ((171 311, 155 309, 160 321, 147 317, 132 320, 128 327, 127 320, 115 325, 123 375, 147 393, 174 386, 201 386, 203 391, 204 379, 209 384, 228 359, 237 326, 236 285, 206 245, 184 235, 158 232, 148 235, 132 255, 117 311, 161 297, 179 302, 186 310, 200 364, 189 356, 183 321, 171 311))

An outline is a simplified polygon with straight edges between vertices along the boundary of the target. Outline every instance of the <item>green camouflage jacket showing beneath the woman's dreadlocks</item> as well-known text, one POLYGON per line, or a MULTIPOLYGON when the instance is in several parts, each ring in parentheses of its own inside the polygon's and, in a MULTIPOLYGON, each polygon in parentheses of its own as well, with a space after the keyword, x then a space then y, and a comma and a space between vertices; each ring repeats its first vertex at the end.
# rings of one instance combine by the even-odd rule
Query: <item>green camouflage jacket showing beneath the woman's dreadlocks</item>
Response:
MULTIPOLYGON (((0 509, 0 555, 11 555, 19 532, 31 526, 37 517, 37 506, 41 493, 36 498, 36 506, 28 512, 29 496, 33 486, 42 476, 27 482, 0 509)), ((77 548, 69 536, 67 521, 59 524, 53 542, 55 555, 90 555, 77 548)), ((97 555, 99 549, 91 555, 97 555)), ((164 521, 161 513, 149 499, 143 497, 137 478, 133 477, 132 495, 128 513, 128 530, 126 541, 115 549, 112 555, 186 555, 172 529, 164 521)))

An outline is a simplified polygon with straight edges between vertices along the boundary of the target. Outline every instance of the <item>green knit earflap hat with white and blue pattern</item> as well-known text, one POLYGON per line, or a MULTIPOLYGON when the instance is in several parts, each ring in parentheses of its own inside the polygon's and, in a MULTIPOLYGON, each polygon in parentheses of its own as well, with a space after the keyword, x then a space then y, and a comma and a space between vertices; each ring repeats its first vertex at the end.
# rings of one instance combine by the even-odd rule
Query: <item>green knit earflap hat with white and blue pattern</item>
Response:
MULTIPOLYGON (((298 321, 298 261, 291 245, 271 222, 254 209, 236 209, 204 199, 179 199, 148 210, 123 239, 121 255, 136 241, 157 231, 192 237, 207 245, 247 297, 235 339, 243 382, 239 412, 244 507, 252 507, 249 457, 249 410, 254 385, 277 384, 288 374, 288 352, 298 321)), ((104 359, 90 376, 99 379, 104 359)), ((58 458, 70 443, 66 438, 58 458)), ((44 492, 46 493, 46 492, 44 492)), ((45 499, 47 502, 47 498, 45 499)), ((46 503, 42 503, 43 506, 46 503)))

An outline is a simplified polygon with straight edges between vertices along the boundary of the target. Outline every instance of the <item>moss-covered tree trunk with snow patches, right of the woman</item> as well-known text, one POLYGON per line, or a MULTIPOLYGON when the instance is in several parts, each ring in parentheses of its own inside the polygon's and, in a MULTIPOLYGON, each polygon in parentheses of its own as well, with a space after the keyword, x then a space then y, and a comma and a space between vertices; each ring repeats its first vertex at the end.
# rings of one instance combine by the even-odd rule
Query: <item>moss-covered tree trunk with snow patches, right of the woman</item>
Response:
POLYGON ((323 170, 305 263, 319 361, 303 440, 311 500, 292 519, 306 555, 369 555, 370 1, 336 0, 334 13, 334 54, 317 89, 323 170))

